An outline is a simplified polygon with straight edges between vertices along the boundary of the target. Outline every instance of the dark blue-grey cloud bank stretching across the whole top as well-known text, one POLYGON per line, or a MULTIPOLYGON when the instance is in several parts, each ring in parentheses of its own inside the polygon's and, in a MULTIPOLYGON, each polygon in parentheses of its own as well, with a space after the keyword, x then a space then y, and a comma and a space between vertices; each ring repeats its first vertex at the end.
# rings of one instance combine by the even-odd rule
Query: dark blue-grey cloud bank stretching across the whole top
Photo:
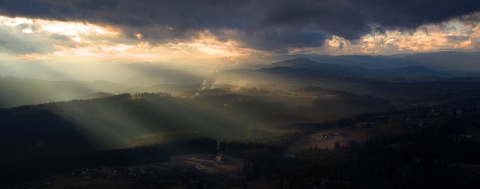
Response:
POLYGON ((114 25, 152 43, 188 40, 208 30, 263 50, 320 46, 332 35, 356 40, 372 30, 408 31, 479 10, 479 0, 0 1, 3 15, 114 25), (225 29, 243 35, 228 36, 225 29))

